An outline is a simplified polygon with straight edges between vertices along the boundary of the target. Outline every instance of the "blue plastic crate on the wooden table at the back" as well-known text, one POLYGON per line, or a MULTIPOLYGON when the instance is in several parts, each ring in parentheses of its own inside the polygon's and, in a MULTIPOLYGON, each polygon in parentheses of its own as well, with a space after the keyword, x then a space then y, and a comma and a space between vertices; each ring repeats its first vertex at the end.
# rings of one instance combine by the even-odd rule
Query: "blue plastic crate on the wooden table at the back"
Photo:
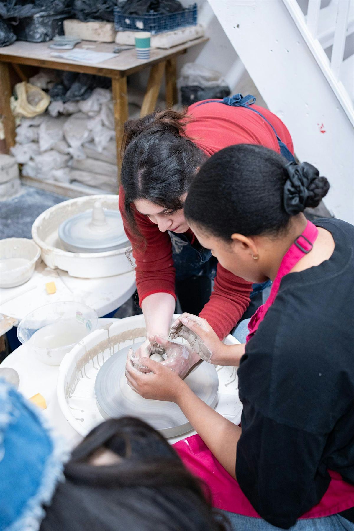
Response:
POLYGON ((197 4, 176 13, 146 13, 145 15, 125 15, 120 7, 114 7, 114 23, 117 31, 150 31, 152 35, 172 31, 197 23, 197 4))

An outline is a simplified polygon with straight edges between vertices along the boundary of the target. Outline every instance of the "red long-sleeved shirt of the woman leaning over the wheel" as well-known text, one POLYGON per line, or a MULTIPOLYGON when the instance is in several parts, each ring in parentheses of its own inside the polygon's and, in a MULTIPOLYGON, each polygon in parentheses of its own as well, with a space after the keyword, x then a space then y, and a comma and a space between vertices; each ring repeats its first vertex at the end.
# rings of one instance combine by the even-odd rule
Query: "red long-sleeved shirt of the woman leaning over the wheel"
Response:
MULTIPOLYGON (((293 152, 291 136, 281 120, 269 110, 253 105, 273 125, 280 139, 293 152)), ((186 127, 186 134, 211 156, 228 145, 246 143, 260 144, 280 152, 278 140, 264 119, 252 110, 230 107, 220 103, 209 103, 188 108, 188 115, 194 121, 186 127)), ((133 207, 134 208, 134 207, 133 207)), ((167 232, 161 232, 149 218, 135 210, 135 219, 140 233, 145 237, 145 249, 136 247, 137 238, 132 233, 125 216, 124 190, 119 189, 119 209, 122 214, 126 235, 133 246, 135 259, 136 286, 139 301, 153 293, 175 295, 175 268, 172 260, 172 244, 167 232)), ((189 229, 187 234, 195 238, 189 229)), ((200 316, 206 319, 220 339, 225 337, 239 321, 249 304, 252 285, 233 275, 220 264, 209 302, 200 316)))

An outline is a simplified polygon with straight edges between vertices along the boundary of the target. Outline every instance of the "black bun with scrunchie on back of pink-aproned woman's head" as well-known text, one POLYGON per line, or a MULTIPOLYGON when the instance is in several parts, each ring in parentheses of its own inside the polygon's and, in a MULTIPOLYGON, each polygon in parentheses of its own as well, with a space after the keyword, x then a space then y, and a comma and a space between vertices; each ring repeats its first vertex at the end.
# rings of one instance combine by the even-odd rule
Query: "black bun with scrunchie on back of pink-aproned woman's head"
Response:
POLYGON ((308 162, 289 162, 286 165, 288 179, 284 184, 284 209, 290 216, 296 216, 306 207, 317 207, 330 189, 326 177, 308 162))

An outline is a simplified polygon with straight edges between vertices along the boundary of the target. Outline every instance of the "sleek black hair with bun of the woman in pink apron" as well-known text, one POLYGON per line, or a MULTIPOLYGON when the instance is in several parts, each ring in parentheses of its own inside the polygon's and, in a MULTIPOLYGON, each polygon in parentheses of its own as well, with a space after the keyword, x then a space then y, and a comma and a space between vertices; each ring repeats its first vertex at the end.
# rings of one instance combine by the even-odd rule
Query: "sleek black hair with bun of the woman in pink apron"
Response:
POLYGON ((316 207, 329 187, 308 162, 288 163, 261 145, 231 145, 206 161, 193 179, 185 216, 225 241, 234 233, 277 234, 291 216, 316 207))

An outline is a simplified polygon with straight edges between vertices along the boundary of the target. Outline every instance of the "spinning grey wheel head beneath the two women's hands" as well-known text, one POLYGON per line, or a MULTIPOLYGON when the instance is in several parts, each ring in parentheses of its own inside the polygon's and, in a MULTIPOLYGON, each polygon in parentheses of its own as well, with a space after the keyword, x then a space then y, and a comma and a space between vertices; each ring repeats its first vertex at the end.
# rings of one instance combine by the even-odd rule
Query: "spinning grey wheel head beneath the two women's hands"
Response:
MULTIPOLYGON (((142 343, 137 343, 132 348, 135 351, 140 345, 142 343)), ((103 418, 139 417, 165 437, 175 437, 191 430, 191 424, 176 404, 142 398, 128 386, 125 364, 129 348, 125 347, 107 359, 97 374, 94 394, 103 418)), ((214 365, 200 363, 188 374, 185 382, 206 404, 215 407, 219 379, 214 365)))

